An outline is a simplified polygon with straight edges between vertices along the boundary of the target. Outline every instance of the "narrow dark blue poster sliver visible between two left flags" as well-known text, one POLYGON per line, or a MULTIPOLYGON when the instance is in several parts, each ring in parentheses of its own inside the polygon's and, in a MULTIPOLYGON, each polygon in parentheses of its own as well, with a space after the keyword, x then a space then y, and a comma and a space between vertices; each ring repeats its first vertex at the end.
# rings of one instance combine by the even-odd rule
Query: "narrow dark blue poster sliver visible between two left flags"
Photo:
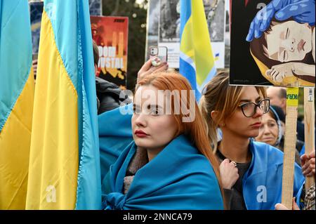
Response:
POLYGON ((31 17, 32 29, 32 53, 36 55, 39 53, 39 33, 41 32, 41 14, 43 13, 43 2, 30 2, 29 13, 31 17))

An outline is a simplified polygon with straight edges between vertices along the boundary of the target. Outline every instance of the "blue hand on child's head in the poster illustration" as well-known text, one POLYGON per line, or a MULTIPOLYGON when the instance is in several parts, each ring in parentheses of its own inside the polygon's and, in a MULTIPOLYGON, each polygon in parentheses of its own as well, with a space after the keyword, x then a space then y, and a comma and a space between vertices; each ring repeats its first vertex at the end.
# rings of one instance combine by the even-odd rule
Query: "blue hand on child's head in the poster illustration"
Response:
POLYGON ((280 21, 292 17, 296 22, 315 25, 315 0, 272 0, 252 20, 246 41, 260 38, 274 16, 280 21))

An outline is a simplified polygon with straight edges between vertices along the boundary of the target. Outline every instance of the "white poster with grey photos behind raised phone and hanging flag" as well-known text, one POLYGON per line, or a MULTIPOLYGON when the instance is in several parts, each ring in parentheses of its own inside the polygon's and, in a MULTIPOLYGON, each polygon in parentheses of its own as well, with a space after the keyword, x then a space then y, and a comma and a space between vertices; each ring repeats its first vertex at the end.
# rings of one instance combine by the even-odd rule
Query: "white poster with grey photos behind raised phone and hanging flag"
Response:
MULTIPOLYGON (((229 42, 229 35, 225 32, 225 0, 203 0, 203 3, 216 67, 224 68, 226 39, 229 42)), ((146 45, 146 60, 149 59, 150 46, 166 46, 169 67, 179 67, 180 0, 149 1, 146 45)))

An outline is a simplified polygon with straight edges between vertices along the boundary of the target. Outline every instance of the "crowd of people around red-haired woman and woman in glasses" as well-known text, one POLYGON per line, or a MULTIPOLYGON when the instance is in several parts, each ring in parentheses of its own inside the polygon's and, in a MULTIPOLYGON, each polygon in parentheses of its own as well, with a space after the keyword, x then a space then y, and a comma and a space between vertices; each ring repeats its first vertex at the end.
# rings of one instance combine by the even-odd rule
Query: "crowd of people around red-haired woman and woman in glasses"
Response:
POLYGON ((197 103, 188 81, 167 70, 145 62, 132 100, 96 79, 103 209, 315 209, 315 185, 304 190, 315 152, 299 157, 300 129, 296 202, 279 204, 283 88, 230 86, 220 72, 197 103))

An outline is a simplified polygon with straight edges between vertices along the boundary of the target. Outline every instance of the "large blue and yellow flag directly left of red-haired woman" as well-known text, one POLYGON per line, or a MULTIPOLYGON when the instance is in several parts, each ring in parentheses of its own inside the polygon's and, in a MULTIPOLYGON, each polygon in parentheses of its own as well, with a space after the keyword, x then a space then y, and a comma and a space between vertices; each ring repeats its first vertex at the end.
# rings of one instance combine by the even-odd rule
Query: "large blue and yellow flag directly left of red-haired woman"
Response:
POLYGON ((100 155, 88 0, 45 0, 27 209, 100 209, 100 155))

